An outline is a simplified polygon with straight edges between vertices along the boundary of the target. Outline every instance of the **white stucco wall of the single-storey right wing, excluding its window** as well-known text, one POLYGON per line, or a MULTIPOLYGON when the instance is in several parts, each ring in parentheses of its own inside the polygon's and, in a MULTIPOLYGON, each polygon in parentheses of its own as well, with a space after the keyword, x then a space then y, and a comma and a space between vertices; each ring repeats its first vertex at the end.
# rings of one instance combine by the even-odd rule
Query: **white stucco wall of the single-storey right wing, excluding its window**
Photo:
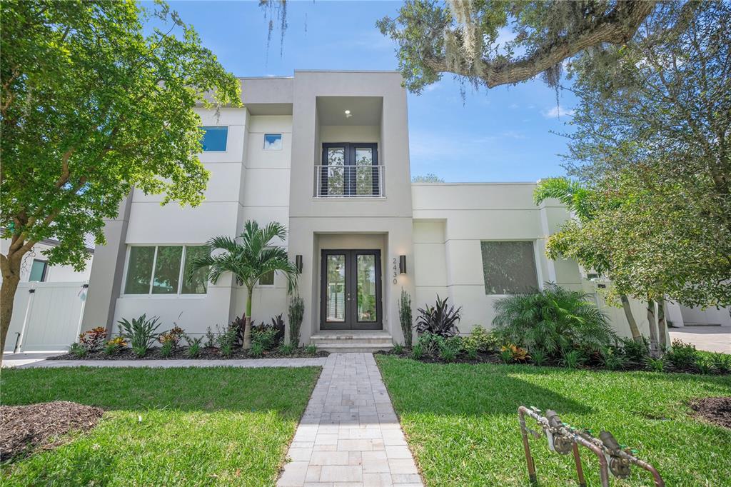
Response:
POLYGON ((490 328, 493 304, 503 295, 486 295, 482 241, 533 243, 537 282, 580 289, 575 263, 545 257, 547 229, 569 217, 557 203, 533 203, 532 183, 412 184, 416 304, 448 296, 462 306, 461 333, 474 325, 490 328))

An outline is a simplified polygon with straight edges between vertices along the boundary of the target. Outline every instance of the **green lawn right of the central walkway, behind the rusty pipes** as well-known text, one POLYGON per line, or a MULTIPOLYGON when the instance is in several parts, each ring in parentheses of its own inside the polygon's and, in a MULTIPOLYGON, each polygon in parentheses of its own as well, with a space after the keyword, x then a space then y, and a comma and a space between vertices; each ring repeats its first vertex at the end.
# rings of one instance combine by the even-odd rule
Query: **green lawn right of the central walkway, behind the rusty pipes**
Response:
MULTIPOLYGON (((555 409, 597 435, 612 431, 668 486, 731 485, 731 430, 691 418, 686 407, 697 397, 731 396, 731 377, 376 360, 429 486, 528 485, 520 404, 555 409)), ((531 439, 531 450, 541 486, 576 485, 571 456, 550 453, 545 437, 531 439)), ((599 485, 596 458, 588 450, 582 458, 589 485, 599 485)), ((652 483, 633 469, 613 485, 652 483)))

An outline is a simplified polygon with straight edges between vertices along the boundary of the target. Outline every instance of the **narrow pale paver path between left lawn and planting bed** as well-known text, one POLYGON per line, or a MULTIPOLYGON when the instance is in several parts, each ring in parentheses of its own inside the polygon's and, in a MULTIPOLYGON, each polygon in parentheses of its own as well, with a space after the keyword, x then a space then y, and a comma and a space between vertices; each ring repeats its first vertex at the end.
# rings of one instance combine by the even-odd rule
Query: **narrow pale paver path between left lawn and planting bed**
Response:
POLYGON ((322 367, 326 357, 247 358, 243 360, 41 360, 19 365, 18 369, 37 367, 322 367))

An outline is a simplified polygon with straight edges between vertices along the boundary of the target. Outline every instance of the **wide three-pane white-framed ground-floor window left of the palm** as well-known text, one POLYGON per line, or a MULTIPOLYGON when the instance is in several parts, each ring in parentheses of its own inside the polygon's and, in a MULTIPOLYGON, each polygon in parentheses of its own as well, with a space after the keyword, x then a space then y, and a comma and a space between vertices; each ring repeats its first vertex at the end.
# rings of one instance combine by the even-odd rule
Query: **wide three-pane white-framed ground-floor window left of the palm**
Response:
POLYGON ((208 270, 199 269, 193 276, 189 271, 193 260, 206 254, 206 246, 132 246, 124 294, 205 294, 208 270))

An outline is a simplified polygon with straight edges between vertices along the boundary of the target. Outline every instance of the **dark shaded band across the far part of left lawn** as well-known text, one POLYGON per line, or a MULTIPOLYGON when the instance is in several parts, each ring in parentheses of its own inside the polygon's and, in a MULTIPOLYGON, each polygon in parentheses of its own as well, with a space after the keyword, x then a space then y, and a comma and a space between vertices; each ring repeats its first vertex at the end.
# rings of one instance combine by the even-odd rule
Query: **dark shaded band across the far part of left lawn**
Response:
POLYGON ((298 419, 317 377, 319 367, 9 369, 2 374, 2 404, 74 401, 105 410, 276 410, 298 419))

